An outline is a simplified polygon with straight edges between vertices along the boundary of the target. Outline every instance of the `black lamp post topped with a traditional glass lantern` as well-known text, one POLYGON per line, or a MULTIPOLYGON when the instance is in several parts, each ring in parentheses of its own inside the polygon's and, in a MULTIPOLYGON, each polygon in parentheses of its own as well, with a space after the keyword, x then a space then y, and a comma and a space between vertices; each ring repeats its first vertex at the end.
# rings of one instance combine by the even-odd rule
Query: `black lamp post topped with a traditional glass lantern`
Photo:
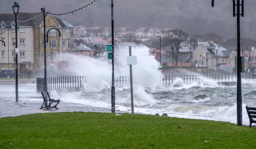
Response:
MULTIPOLYGON (((18 48, 18 42, 17 42, 17 14, 19 13, 19 4, 15 2, 12 6, 13 8, 13 13, 15 15, 15 49, 18 48)), ((15 51, 16 53, 16 51, 15 51)), ((16 63, 16 75, 15 75, 15 92, 16 92, 16 102, 19 101, 19 96, 18 96, 18 53, 15 54, 15 63, 16 63)))

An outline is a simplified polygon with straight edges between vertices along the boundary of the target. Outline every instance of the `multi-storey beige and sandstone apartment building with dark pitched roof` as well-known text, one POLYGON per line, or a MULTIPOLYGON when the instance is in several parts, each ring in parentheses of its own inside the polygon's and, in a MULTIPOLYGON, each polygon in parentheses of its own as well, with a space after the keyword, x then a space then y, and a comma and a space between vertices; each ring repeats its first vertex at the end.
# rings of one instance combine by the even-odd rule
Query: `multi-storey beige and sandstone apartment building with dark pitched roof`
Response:
MULTIPOLYGON (((18 13, 18 19, 31 18, 38 13, 18 13)), ((14 20, 13 14, 0 14, 0 25, 4 26, 14 20)), ((47 69, 53 67, 57 70, 58 62, 69 61, 69 55, 73 52, 73 29, 74 27, 66 21, 57 17, 46 15, 46 31, 50 28, 57 28, 49 31, 49 39, 46 45, 47 69), (53 52, 51 52, 53 51, 53 52), (50 64, 53 63, 51 66, 50 64)), ((17 41, 18 41, 18 71, 24 73, 27 70, 33 72, 44 69, 43 57, 43 14, 30 19, 29 21, 17 21, 17 41)), ((14 42, 15 42, 15 22, 1 29, 0 39, 6 44, 0 43, 0 69, 14 69, 14 42)))

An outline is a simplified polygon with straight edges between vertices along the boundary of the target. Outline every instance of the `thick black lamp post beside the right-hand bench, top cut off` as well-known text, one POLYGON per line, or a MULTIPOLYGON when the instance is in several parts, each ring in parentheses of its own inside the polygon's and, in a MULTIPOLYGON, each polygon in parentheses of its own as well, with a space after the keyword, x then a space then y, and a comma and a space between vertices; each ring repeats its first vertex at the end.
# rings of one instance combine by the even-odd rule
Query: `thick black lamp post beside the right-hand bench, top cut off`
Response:
MULTIPOLYGON (((211 1, 211 6, 214 7, 214 0, 211 1)), ((240 4, 240 0, 233 0, 233 17, 237 15, 237 125, 242 126, 242 86, 241 86, 241 50, 240 50, 240 15, 244 17, 244 0, 240 4), (237 6, 237 13, 235 13, 235 6, 237 6), (242 7, 242 13, 240 13, 242 7)))

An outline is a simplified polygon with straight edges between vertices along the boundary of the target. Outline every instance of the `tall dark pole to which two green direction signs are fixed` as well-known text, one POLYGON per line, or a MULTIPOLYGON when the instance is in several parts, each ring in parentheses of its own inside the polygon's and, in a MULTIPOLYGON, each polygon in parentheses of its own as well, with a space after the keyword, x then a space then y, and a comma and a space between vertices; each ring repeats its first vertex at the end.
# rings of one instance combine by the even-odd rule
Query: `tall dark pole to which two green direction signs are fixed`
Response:
POLYGON ((112 32, 112 86, 111 86, 111 112, 115 113, 115 78, 114 78, 114 4, 111 0, 111 32, 112 32))

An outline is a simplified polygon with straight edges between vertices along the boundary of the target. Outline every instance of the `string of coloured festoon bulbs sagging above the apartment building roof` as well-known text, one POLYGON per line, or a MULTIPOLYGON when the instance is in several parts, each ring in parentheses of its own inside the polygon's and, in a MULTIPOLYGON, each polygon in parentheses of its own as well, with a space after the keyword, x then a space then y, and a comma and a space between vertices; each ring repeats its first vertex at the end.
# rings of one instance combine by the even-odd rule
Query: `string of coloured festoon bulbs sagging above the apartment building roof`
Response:
MULTIPOLYGON (((67 12, 67 13, 62 13, 62 14, 53 14, 53 13, 50 13, 50 12, 45 12, 45 14, 49 14, 49 15, 52 15, 52 16, 62 17, 62 16, 67 15, 67 14, 77 13, 78 11, 83 10, 83 9, 85 9, 85 8, 89 7, 89 6, 93 6, 93 3, 95 3, 95 2, 98 2, 98 0, 95 0, 95 1, 93 1, 93 2, 91 2, 91 3, 89 3, 89 4, 88 4, 88 5, 86 5, 86 6, 83 6, 83 7, 79 8, 79 9, 76 9, 76 10, 74 10, 74 11, 70 11, 70 12, 67 12)), ((43 14, 43 12, 41 12, 41 13, 39 13, 39 14, 36 14, 36 15, 34 15, 33 17, 30 17, 30 18, 24 19, 24 20, 17 19, 17 21, 20 21, 20 22, 26 22, 26 21, 29 21, 29 20, 31 20, 31 19, 34 19, 35 17, 37 17, 38 15, 41 15, 41 14, 43 14)), ((15 21, 15 20, 12 20, 12 21, 11 21, 11 22, 9 22, 8 24, 6 24, 6 25, 4 25, 4 26, 1 26, 1 29, 2 29, 2 28, 4 28, 4 27, 6 27, 6 26, 11 25, 11 23, 13 23, 14 21, 15 21)))

